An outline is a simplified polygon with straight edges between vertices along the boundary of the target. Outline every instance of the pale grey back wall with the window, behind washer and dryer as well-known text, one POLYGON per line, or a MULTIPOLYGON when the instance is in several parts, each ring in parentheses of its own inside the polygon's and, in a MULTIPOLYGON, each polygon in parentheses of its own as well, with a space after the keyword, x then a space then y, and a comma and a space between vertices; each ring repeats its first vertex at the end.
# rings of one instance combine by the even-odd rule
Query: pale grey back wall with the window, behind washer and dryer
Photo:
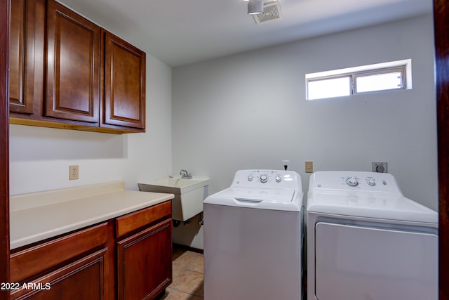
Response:
POLYGON ((297 41, 173 70, 173 173, 290 169, 307 192, 314 171, 371 171, 388 162, 406 197, 437 208, 434 34, 431 15, 297 41), (411 58, 413 90, 306 101, 311 72, 411 58))

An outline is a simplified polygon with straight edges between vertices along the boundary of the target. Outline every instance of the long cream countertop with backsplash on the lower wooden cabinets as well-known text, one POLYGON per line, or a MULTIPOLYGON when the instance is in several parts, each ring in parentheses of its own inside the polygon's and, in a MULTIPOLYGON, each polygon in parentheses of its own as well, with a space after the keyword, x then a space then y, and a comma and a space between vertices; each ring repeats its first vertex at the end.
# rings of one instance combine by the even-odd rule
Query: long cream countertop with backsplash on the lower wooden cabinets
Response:
POLYGON ((123 181, 10 197, 10 247, 39 242, 151 207, 173 194, 125 190, 123 181))

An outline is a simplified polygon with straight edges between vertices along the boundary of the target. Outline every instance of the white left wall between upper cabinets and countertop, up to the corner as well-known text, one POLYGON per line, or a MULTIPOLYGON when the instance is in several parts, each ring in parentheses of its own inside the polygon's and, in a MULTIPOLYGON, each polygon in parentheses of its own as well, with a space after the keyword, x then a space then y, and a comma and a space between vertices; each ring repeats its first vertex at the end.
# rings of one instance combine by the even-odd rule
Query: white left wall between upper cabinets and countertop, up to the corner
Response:
POLYGON ((11 125, 11 195, 116 180, 138 190, 138 181, 171 174, 171 72, 147 53, 145 133, 115 135, 11 125), (69 181, 71 164, 79 165, 77 181, 69 181))

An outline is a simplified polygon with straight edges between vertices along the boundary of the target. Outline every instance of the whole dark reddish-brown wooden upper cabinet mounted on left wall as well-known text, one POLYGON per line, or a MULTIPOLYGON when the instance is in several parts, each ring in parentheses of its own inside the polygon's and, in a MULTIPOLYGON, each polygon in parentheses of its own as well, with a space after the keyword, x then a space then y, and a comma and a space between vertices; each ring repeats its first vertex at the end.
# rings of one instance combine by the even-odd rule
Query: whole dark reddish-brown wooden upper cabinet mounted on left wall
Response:
POLYGON ((55 0, 12 1, 10 44, 11 124, 145 132, 145 52, 55 0))

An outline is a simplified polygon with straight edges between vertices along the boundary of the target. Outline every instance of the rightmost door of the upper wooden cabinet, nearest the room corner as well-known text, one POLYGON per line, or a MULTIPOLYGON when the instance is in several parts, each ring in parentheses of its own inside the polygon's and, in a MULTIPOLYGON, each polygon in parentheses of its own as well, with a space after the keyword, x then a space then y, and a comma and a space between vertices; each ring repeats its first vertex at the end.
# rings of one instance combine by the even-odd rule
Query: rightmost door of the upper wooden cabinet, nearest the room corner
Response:
POLYGON ((102 31, 105 95, 100 126, 145 131, 145 52, 102 31))

